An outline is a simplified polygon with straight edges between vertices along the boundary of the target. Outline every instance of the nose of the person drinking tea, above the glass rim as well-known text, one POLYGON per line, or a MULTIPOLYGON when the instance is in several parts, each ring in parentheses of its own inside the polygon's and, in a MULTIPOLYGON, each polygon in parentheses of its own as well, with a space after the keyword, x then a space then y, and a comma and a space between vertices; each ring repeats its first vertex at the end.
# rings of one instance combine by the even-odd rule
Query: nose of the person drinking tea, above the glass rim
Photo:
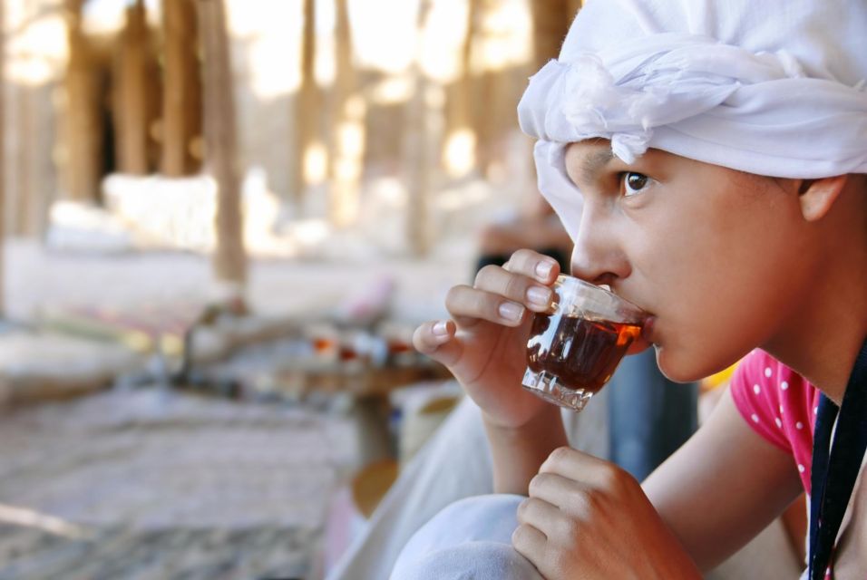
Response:
POLYGON ((572 248, 572 275, 596 285, 615 285, 630 267, 619 231, 607 213, 585 202, 579 235, 572 248))

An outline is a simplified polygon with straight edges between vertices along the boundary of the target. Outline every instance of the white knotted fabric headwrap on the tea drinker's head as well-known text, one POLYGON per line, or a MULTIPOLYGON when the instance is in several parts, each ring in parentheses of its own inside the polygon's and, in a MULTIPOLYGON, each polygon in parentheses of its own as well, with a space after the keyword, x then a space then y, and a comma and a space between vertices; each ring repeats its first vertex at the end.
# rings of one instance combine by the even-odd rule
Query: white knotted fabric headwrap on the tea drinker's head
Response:
POLYGON ((574 239, 570 142, 759 175, 867 173, 867 2, 589 0, 518 106, 539 187, 574 239))

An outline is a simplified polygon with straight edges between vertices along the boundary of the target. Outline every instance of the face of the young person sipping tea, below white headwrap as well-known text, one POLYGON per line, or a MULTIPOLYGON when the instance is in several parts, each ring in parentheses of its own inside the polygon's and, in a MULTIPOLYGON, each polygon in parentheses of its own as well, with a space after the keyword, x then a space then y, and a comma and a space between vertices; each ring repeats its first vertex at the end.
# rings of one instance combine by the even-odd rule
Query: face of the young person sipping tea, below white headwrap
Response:
POLYGON ((570 145, 566 168, 584 204, 572 274, 653 314, 668 377, 720 371, 793 323, 817 253, 790 183, 661 150, 627 165, 607 140, 570 145))

